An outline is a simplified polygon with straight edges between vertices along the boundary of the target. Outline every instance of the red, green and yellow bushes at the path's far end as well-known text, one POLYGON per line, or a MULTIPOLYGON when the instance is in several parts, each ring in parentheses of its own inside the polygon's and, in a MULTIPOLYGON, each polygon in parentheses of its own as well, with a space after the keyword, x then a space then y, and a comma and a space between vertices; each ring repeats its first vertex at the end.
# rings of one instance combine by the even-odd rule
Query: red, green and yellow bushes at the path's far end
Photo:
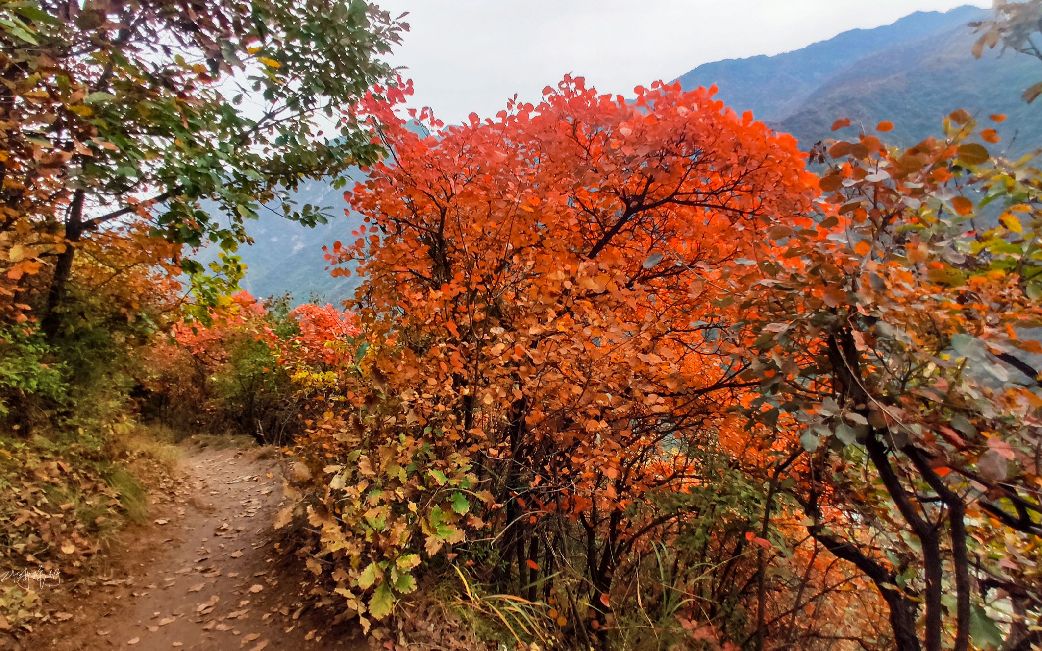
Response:
POLYGON ((248 292, 222 299, 203 322, 171 327, 142 353, 152 397, 146 411, 182 432, 250 433, 289 443, 311 399, 339 384, 356 318, 332 305, 262 301, 248 292))

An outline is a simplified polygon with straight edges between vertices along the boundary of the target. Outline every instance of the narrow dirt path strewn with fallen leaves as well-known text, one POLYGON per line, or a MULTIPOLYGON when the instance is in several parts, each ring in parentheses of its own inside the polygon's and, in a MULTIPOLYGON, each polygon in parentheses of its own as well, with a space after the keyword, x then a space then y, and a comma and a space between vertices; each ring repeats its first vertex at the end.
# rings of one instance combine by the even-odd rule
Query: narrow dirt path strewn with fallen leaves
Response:
POLYGON ((355 651, 336 601, 316 591, 272 540, 282 500, 278 464, 255 451, 185 447, 154 522, 118 539, 95 585, 53 595, 55 623, 25 649, 82 651, 355 651))

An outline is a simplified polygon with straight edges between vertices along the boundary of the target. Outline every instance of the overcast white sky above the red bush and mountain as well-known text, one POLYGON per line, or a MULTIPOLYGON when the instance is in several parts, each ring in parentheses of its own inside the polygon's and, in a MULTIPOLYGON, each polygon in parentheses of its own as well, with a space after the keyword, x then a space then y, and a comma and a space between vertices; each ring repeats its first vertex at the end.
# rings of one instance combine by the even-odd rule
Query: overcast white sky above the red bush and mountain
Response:
POLYGON ((915 10, 990 0, 377 0, 408 11, 392 58, 415 101, 446 123, 494 117, 515 93, 537 101, 566 73, 598 91, 675 79, 708 61, 777 54, 915 10))

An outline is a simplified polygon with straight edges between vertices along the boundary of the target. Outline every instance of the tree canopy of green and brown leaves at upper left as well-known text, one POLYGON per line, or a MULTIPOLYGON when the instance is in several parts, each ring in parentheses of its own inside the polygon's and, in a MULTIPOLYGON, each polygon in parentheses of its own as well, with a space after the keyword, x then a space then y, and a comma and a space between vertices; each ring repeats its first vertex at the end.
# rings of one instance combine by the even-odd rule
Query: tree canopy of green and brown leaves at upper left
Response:
MULTIPOLYGON (((113 223, 230 254, 257 210, 326 219, 289 193, 374 159, 345 109, 387 78, 379 57, 407 27, 361 0, 27 1, 0 16, 4 292, 8 308, 40 301, 52 335, 80 242, 113 223)), ((212 302, 224 284, 179 260, 212 302)), ((213 271, 233 284, 241 270, 229 256, 213 271)))

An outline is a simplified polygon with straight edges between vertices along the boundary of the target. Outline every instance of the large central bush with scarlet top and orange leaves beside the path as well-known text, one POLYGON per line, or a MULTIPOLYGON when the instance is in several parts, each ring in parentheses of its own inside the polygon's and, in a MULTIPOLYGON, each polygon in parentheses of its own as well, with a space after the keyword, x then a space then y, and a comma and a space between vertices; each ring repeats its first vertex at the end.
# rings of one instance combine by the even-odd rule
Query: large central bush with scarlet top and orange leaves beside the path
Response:
POLYGON ((787 566, 750 508, 762 480, 721 444, 762 435, 729 411, 755 382, 728 356, 740 306, 721 278, 814 214, 795 142, 711 91, 631 102, 581 78, 423 135, 394 110, 410 92, 364 106, 392 153, 349 193, 357 241, 327 255, 359 260, 366 345, 295 452, 350 610, 372 625, 452 561, 511 596, 497 611, 519 640, 694 648, 755 634, 769 571, 765 616, 799 641, 842 634, 827 614, 851 600, 792 626, 838 571, 816 552, 787 566))

